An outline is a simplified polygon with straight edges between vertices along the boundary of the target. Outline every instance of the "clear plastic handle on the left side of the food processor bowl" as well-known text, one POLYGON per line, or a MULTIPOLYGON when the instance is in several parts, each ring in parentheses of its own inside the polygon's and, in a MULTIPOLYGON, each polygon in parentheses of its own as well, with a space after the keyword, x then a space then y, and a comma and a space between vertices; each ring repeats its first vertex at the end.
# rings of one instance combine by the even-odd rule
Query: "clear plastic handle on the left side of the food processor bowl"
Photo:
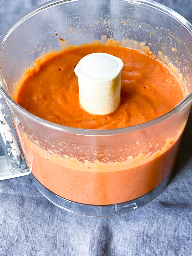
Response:
POLYGON ((12 124, 12 118, 8 105, 3 99, 1 93, 0 144, 2 145, 4 151, 4 156, 0 156, 0 180, 28 175, 29 168, 20 149, 17 135, 12 124))

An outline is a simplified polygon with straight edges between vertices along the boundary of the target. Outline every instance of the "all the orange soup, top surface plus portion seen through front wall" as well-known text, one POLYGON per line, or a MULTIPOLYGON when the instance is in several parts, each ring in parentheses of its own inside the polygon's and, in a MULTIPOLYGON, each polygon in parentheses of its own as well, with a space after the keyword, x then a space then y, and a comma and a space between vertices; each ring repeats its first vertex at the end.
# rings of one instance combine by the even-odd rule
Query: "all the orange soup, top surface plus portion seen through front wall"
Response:
MULTIPOLYGON (((65 126, 114 129, 141 124, 164 115, 184 97, 180 83, 163 63, 154 56, 117 43, 71 46, 45 57, 38 68, 37 62, 26 72, 15 99, 36 116, 65 126), (115 112, 108 115, 92 115, 79 104, 74 68, 84 56, 95 52, 112 54, 124 62, 121 102, 115 112)), ((57 148, 51 150, 54 146, 49 145, 48 140, 43 147, 38 141, 30 141, 27 132, 21 138, 28 165, 41 184, 71 201, 102 205, 132 200, 158 186, 176 161, 183 129, 153 154, 130 156, 116 162, 102 161, 102 154, 98 152, 96 161, 95 158, 81 161, 66 155, 62 148, 58 149, 61 155, 57 154, 57 148)), ((118 149, 120 156, 121 150, 118 149)))

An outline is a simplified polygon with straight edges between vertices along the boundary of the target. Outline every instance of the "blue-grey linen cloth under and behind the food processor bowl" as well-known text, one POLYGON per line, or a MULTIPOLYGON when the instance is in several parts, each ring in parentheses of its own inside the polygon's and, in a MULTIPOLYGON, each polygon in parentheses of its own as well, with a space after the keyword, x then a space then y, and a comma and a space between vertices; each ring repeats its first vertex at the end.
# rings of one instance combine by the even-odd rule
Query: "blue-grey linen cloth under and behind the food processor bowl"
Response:
MULTIPOLYGON (((191 0, 159 2, 192 22, 191 0)), ((0 0, 0 34, 41 3, 0 0)), ((155 200, 110 218, 61 210, 37 191, 29 176, 1 181, 0 256, 192 255, 192 112, 174 170, 168 187, 155 200)))

